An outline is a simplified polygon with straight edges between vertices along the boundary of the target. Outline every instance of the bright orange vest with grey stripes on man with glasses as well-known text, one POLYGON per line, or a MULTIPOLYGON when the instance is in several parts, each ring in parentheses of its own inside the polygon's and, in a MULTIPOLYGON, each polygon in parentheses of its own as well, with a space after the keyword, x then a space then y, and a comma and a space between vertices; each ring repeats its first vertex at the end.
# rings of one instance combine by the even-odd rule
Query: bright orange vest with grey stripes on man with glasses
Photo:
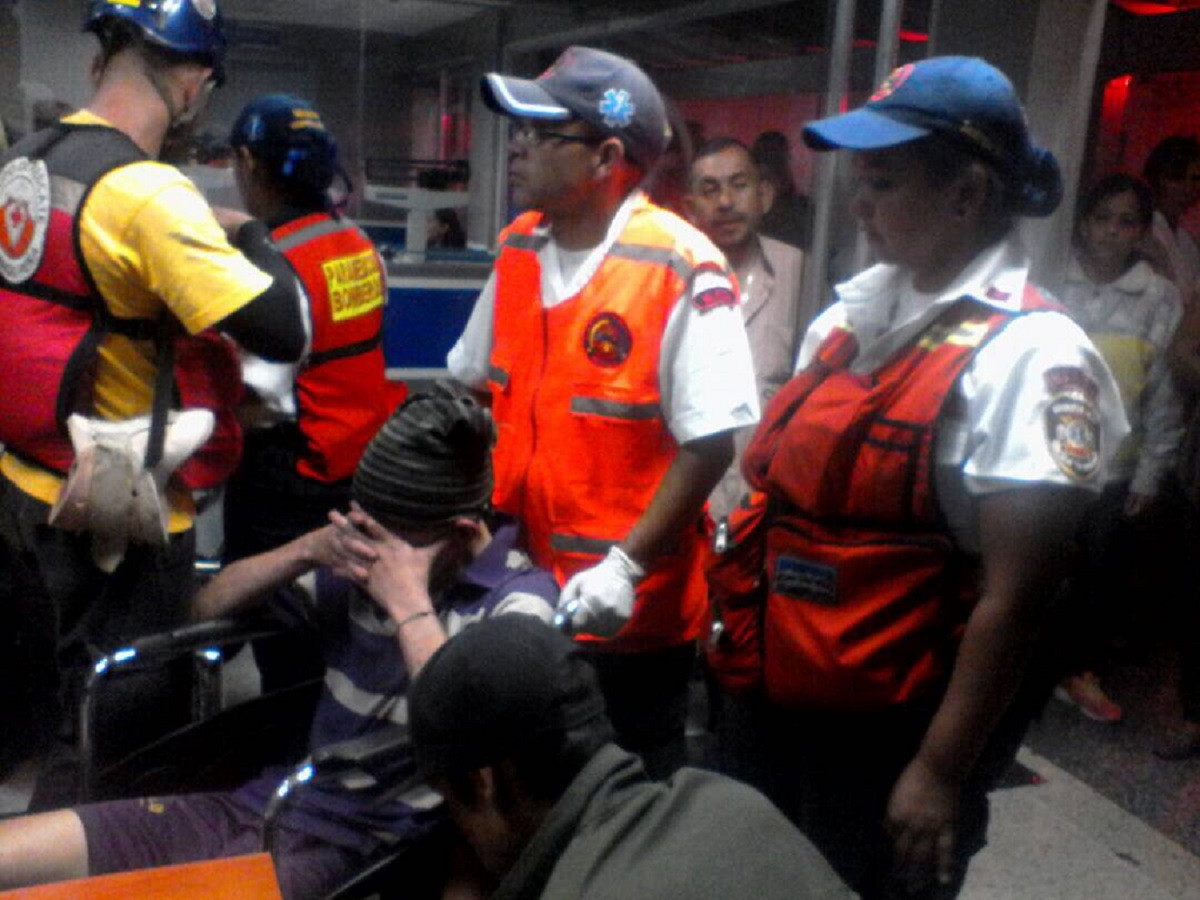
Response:
MULTIPOLYGON (((521 518, 534 562, 564 583, 629 533, 674 461, 659 390, 662 332, 696 271, 726 266, 698 232, 641 202, 583 290, 546 310, 539 220, 524 214, 505 229, 496 262, 493 499, 521 518)), ((704 522, 654 560, 607 649, 698 637, 704 522)))

